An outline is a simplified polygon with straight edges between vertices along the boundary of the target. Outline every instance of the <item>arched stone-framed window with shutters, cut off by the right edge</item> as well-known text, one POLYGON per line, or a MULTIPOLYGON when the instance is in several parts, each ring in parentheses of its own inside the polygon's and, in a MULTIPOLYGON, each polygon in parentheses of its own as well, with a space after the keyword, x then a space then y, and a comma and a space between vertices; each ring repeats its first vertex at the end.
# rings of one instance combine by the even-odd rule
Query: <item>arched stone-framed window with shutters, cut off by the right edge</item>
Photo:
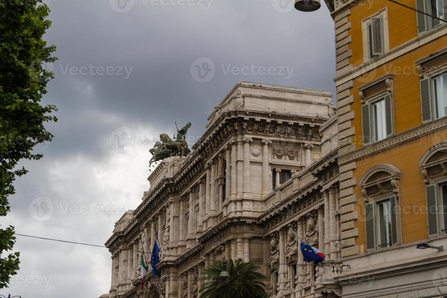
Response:
POLYGON ((447 143, 427 150, 419 160, 426 184, 428 236, 447 232, 447 143))

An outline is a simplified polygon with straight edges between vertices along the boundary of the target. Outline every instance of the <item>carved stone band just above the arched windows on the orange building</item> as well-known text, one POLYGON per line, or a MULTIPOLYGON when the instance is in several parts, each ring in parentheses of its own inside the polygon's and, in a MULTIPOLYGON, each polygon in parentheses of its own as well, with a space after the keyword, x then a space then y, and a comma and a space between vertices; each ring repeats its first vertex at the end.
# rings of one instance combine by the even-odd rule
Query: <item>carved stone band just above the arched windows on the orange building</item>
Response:
POLYGON ((396 147, 406 142, 413 141, 424 135, 431 134, 435 131, 445 129, 447 126, 447 118, 443 117, 432 122, 417 126, 413 129, 395 134, 390 138, 373 143, 366 147, 359 148, 353 152, 338 157, 338 165, 342 166, 354 162, 359 159, 363 159, 367 156, 374 155, 376 153, 388 150, 389 148, 396 147))

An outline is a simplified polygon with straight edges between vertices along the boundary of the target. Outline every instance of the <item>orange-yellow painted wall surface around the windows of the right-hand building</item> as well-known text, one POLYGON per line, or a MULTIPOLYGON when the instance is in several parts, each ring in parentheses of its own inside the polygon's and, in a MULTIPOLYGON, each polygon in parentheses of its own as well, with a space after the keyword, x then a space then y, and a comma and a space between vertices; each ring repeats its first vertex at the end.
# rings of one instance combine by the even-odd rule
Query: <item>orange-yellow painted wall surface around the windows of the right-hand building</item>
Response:
MULTIPOLYGON (((401 0, 400 2, 411 7, 416 6, 415 0, 401 0)), ((348 34, 352 36, 352 42, 349 45, 350 50, 352 50, 350 63, 354 67, 363 63, 362 20, 379 12, 384 7, 388 7, 390 50, 417 37, 416 12, 387 0, 363 0, 351 8, 351 15, 348 17, 348 22, 351 23, 348 34)), ((420 78, 415 61, 446 46, 447 36, 443 36, 430 44, 392 60, 386 65, 379 66, 362 77, 354 79, 354 88, 351 89, 351 95, 354 95, 354 104, 351 106, 351 110, 354 111, 355 116, 352 126, 355 127, 355 139, 353 141, 357 143, 357 148, 363 146, 362 105, 358 87, 385 74, 395 74, 393 80, 395 134, 420 126, 422 124, 419 94, 420 78)), ((377 164, 394 164, 401 170, 399 202, 402 210, 402 243, 427 238, 427 218, 426 212, 424 212, 426 208, 425 184, 423 183, 424 178, 421 168, 417 163, 422 154, 430 147, 440 142, 447 142, 446 137, 447 128, 357 161, 357 169, 354 171, 354 177, 357 178, 357 181, 360 180, 365 171, 377 164)), ((357 244, 361 246, 361 253, 363 253, 365 252, 363 195, 359 186, 355 187, 354 193, 358 195, 358 204, 355 206, 355 210, 359 213, 359 220, 356 222, 356 227, 359 229, 357 244)))

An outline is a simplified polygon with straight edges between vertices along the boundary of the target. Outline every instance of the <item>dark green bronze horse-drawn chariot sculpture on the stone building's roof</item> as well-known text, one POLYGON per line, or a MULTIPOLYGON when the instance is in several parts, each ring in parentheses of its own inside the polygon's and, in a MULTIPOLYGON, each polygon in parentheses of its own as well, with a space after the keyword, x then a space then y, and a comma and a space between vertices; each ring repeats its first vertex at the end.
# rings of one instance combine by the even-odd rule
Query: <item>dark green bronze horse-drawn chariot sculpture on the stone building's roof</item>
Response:
MULTIPOLYGON (((175 123, 177 127, 177 123, 175 123)), ((182 129, 177 127, 177 137, 173 136, 175 141, 169 137, 168 134, 160 134, 160 142, 155 143, 154 147, 149 150, 152 154, 152 158, 149 161, 149 166, 158 160, 162 160, 173 156, 187 156, 191 153, 186 143, 186 133, 191 127, 191 122, 188 122, 182 129)))

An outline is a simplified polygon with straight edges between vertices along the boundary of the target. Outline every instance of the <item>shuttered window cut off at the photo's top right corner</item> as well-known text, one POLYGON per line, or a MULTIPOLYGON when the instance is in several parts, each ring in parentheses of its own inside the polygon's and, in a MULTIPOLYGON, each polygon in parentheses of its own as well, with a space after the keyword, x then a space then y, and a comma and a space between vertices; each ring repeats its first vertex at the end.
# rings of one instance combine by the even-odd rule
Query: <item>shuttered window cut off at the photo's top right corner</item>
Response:
POLYGON ((416 0, 416 9, 433 16, 430 17, 423 13, 417 13, 418 34, 423 34, 439 25, 445 24, 445 22, 439 20, 446 20, 447 5, 443 4, 443 0, 416 0))

